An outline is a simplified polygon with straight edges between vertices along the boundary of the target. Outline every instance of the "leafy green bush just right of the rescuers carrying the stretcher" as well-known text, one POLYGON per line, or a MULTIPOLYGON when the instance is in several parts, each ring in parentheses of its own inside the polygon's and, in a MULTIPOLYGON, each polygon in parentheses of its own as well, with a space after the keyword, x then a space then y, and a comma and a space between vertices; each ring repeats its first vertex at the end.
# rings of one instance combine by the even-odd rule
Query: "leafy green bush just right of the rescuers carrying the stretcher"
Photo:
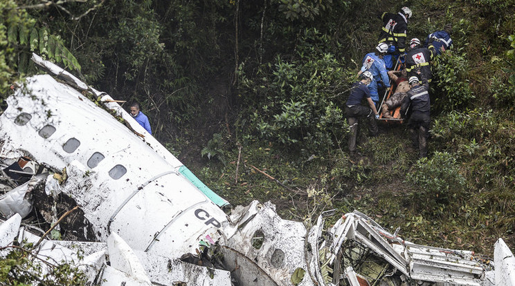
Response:
POLYGON ((433 75, 440 93, 435 106, 441 111, 453 111, 467 106, 476 98, 469 86, 469 61, 460 50, 442 53, 435 60, 433 75))

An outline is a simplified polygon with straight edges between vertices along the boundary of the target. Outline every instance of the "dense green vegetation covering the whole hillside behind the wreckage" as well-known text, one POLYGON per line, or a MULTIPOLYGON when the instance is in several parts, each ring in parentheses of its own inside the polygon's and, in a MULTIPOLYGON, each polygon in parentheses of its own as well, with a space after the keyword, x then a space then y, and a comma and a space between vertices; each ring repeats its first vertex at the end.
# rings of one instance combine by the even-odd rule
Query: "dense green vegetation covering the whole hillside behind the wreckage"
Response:
POLYGON ((35 52, 140 102, 156 138, 233 204, 271 200, 307 222, 359 209, 408 240, 491 255, 498 237, 515 246, 513 15, 514 0, 5 0, 0 94, 36 72, 35 52), (429 156, 381 125, 352 160, 347 90, 379 15, 401 6, 408 38, 454 26, 432 65, 429 156))

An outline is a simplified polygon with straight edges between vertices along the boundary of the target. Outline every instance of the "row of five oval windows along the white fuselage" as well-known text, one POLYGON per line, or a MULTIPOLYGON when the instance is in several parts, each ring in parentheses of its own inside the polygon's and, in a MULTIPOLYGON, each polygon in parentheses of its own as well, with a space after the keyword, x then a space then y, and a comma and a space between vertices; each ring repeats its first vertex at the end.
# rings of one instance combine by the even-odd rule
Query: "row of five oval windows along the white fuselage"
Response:
MULTIPOLYGON (((16 117, 15 124, 17 124, 19 126, 24 126, 31 119, 32 119, 32 115, 23 112, 23 113, 20 113, 16 117)), ((53 133, 55 133, 55 127, 50 124, 43 126, 43 128, 41 128, 41 130, 39 130, 39 132, 38 132, 39 136, 43 137, 44 139, 48 139, 49 137, 51 137, 53 135, 53 133)), ((79 146, 80 146, 80 141, 77 138, 72 137, 68 141, 66 141, 66 143, 63 144, 62 149, 64 150, 64 152, 71 154, 71 153, 75 152, 75 150, 77 150, 79 148, 79 146)), ((87 165, 89 166, 89 168, 93 169, 96 166, 98 166, 98 163, 100 163, 100 161, 104 160, 104 158, 105 158, 105 156, 102 155, 102 153, 95 152, 89 158, 87 165)), ((114 180, 118 180, 119 178, 122 178, 123 175, 125 175, 125 173, 127 173, 127 169, 125 169, 125 166, 120 165, 120 164, 117 164, 111 170, 109 170, 109 176, 111 178, 113 178, 114 180)))

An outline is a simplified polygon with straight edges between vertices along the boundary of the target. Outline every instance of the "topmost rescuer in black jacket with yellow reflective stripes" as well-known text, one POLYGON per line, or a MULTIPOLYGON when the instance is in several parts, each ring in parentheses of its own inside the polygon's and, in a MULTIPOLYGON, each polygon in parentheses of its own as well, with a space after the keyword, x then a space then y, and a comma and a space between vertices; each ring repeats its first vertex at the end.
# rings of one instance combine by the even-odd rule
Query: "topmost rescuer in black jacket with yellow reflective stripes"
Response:
POLYGON ((399 54, 406 53, 406 31, 408 19, 412 16, 411 9, 403 7, 397 14, 384 12, 381 15, 383 27, 379 34, 379 43, 388 45, 388 55, 385 57, 386 68, 391 70, 399 54))

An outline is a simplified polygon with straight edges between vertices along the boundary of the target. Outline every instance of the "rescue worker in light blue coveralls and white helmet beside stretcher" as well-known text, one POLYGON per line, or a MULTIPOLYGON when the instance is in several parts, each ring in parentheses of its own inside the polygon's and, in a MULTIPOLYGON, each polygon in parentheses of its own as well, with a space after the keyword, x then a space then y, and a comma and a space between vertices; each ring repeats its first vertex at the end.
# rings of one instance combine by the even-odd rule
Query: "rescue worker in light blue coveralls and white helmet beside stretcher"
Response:
POLYGON ((388 70, 386 70, 383 61, 386 50, 388 50, 388 45, 379 43, 374 53, 368 53, 363 57, 363 66, 361 66, 361 70, 358 73, 358 75, 361 75, 365 70, 368 70, 374 76, 374 80, 370 82, 368 89, 375 106, 378 106, 377 104, 379 103, 379 89, 383 87, 390 88, 388 70))

